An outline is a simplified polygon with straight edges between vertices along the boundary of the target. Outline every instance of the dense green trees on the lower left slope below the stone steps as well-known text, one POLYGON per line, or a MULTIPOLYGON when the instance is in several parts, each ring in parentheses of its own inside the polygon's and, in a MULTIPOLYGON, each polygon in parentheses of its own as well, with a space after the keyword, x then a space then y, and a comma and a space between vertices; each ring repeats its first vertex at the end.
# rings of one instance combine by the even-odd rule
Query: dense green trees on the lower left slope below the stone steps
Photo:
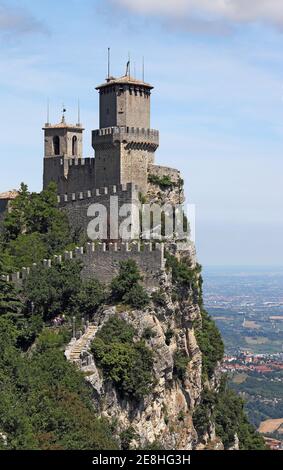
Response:
POLYGON ((118 448, 107 421, 93 410, 83 375, 60 351, 60 335, 44 330, 37 348, 23 355, 12 323, 0 318, 0 342, 0 429, 6 450, 118 448))

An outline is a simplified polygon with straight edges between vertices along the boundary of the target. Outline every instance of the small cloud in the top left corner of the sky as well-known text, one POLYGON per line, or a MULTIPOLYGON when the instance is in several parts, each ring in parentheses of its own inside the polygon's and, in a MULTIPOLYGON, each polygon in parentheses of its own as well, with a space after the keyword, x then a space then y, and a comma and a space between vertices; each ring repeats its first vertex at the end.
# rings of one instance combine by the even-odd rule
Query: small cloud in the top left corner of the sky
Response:
POLYGON ((34 18, 28 10, 9 6, 0 1, 0 33, 25 34, 46 32, 45 25, 34 18))

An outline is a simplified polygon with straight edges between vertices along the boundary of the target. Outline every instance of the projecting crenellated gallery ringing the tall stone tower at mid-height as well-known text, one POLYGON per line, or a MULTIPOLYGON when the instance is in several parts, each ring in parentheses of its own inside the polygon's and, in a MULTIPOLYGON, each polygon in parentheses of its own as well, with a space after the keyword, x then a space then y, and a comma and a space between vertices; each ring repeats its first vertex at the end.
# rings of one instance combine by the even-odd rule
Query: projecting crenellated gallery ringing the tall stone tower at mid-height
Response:
POLYGON ((125 144, 143 144, 153 152, 159 146, 159 131, 141 127, 106 127, 92 132, 92 146, 97 149, 103 145, 121 142, 125 144))

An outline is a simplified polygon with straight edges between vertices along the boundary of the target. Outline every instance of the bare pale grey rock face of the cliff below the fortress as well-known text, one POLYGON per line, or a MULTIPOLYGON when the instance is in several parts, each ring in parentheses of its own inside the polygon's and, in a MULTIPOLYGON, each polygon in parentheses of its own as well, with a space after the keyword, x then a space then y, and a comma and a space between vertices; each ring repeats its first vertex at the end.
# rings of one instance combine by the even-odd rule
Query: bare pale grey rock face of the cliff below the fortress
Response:
MULTIPOLYGON (((191 264, 195 260, 191 259, 191 264)), ((137 438, 132 448, 143 448, 160 444, 164 449, 203 448, 215 438, 212 427, 209 436, 199 442, 193 425, 193 411, 200 402, 202 393, 202 353, 197 343, 194 323, 201 322, 201 312, 191 296, 173 300, 173 285, 170 273, 160 276, 160 288, 164 293, 163 306, 151 304, 144 310, 105 307, 95 316, 99 328, 111 316, 116 315, 131 324, 136 331, 135 340, 141 339, 144 331, 153 334, 146 340, 154 355, 154 383, 143 400, 131 401, 121 398, 111 382, 103 380, 95 364, 88 371, 87 380, 94 389, 95 404, 102 416, 115 421, 117 436, 122 431, 133 429, 137 438), (170 332, 170 334, 168 334, 170 332), (183 380, 174 373, 174 355, 182 352, 188 363, 183 380)), ((215 448, 219 448, 219 442, 215 448)))

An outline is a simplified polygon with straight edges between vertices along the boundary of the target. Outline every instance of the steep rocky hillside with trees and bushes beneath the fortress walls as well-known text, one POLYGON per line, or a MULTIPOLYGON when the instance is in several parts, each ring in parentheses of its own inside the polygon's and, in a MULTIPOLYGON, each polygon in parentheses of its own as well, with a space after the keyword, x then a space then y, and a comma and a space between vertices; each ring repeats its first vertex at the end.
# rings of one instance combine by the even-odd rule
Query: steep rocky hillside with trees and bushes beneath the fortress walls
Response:
POLYGON ((38 266, 20 289, 0 281, 0 446, 264 448, 219 373, 223 342, 203 308, 194 252, 177 258, 168 245, 152 292, 132 260, 111 285, 83 282, 76 260, 41 265, 76 237, 54 186, 22 186, 4 220, 0 271, 38 266), (83 330, 86 318, 98 329, 87 374, 64 356, 74 322, 83 330))

